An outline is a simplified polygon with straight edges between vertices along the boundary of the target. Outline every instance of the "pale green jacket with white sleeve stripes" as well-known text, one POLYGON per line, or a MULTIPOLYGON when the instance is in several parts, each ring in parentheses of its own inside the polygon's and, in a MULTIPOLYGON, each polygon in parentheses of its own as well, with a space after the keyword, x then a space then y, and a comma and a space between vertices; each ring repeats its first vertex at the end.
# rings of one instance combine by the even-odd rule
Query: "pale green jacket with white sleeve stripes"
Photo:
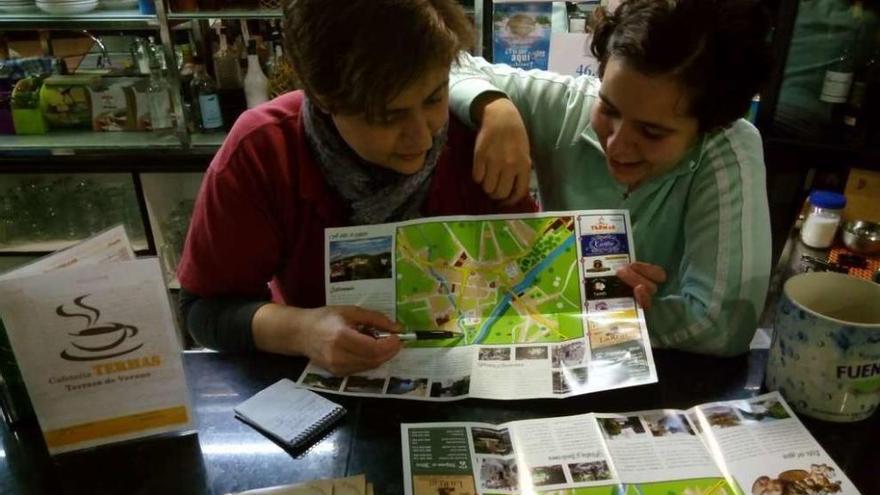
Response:
POLYGON ((667 281, 646 312, 652 345, 729 356, 746 352, 770 278, 770 215, 761 136, 745 120, 702 135, 675 168, 630 194, 608 173, 590 126, 599 80, 492 65, 463 55, 450 105, 501 91, 531 142, 543 209, 630 211, 636 259, 667 281))

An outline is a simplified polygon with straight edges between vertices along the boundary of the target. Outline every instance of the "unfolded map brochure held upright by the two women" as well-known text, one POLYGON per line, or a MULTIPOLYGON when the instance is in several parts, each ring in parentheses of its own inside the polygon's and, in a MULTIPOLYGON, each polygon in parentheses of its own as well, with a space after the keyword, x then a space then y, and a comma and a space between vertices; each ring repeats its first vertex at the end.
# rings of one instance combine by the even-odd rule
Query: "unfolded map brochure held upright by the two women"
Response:
POLYGON ((635 259, 628 212, 438 217, 328 229, 327 304, 406 331, 378 369, 299 384, 417 400, 568 397, 657 381, 645 318, 616 269, 635 259))

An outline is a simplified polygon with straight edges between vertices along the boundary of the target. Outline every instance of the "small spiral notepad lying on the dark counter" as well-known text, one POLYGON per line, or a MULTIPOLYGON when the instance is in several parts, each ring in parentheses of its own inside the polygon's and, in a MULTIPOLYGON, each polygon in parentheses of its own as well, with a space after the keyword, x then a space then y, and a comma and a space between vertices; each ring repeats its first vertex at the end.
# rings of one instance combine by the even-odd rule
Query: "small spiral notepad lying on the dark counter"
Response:
POLYGON ((235 416, 292 448, 315 440, 345 414, 345 408, 284 378, 234 409, 235 416))

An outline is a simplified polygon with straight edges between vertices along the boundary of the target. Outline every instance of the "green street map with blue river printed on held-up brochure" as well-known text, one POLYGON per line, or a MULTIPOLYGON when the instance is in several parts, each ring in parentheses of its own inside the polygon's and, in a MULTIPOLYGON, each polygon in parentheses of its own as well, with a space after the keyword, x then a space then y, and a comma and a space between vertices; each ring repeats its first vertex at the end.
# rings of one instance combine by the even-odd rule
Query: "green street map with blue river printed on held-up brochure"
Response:
POLYGON ((419 345, 584 336, 574 218, 421 223, 396 236, 397 319, 463 334, 419 345))

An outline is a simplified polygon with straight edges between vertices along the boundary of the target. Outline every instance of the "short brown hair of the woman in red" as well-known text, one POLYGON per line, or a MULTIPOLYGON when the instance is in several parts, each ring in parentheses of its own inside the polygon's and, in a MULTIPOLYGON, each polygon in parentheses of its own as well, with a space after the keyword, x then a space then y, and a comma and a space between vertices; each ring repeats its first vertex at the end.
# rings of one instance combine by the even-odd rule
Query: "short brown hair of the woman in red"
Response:
POLYGON ((427 70, 471 48, 455 0, 287 0, 284 47, 306 94, 374 121, 427 70))

